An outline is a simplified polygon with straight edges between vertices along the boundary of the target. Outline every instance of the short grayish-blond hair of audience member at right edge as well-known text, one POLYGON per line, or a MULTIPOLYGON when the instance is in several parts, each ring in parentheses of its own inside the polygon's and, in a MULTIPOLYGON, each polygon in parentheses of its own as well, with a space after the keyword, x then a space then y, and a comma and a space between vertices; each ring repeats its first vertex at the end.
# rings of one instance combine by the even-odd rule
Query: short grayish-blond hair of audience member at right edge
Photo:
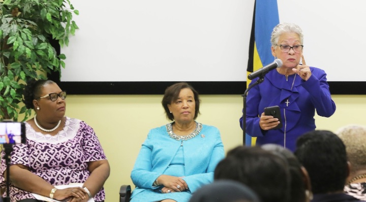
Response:
POLYGON ((366 168, 366 126, 348 125, 335 132, 346 145, 352 172, 366 168))

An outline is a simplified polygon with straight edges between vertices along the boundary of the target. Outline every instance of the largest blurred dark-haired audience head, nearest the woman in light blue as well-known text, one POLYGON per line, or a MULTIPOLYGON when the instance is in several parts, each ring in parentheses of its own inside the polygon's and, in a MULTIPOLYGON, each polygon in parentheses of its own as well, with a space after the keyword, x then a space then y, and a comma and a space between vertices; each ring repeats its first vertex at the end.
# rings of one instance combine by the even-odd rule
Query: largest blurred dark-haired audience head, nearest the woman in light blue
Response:
POLYGON ((253 189, 262 202, 289 198, 290 174, 286 160, 260 147, 238 146, 215 169, 215 180, 239 181, 253 189))

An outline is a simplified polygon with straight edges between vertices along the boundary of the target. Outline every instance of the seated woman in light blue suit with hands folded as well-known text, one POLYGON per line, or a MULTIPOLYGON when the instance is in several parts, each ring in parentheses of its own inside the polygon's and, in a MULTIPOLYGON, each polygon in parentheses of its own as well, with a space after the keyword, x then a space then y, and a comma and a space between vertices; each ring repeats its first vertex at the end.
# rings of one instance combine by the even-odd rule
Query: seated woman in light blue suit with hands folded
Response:
POLYGON ((199 95, 179 82, 162 100, 172 123, 151 129, 131 172, 136 185, 131 202, 186 202, 198 188, 214 181, 216 165, 225 157, 220 131, 195 121, 199 95))

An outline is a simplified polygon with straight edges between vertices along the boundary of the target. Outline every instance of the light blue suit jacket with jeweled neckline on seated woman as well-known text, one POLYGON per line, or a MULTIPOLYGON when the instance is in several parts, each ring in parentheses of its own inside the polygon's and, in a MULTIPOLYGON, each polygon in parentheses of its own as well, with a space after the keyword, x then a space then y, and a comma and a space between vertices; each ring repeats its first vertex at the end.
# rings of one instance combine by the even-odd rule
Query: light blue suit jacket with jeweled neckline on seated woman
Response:
MULTIPOLYGON (((145 189, 156 189, 154 181, 167 169, 180 145, 180 140, 168 135, 165 125, 150 130, 131 172, 131 179, 136 185, 132 197, 145 189)), ((182 179, 193 193, 214 181, 216 165, 225 157, 220 131, 202 124, 201 132, 183 141, 183 147, 186 175, 182 179)))

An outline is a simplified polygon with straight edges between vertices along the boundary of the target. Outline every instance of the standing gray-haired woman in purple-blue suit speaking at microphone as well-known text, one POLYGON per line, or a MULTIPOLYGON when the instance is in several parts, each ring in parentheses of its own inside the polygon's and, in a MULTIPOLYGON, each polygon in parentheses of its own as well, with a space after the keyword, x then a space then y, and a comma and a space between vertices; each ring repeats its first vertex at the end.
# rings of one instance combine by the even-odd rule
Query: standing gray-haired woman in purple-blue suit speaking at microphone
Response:
MULTIPOLYGON (((272 55, 281 59, 283 65, 269 71, 264 81, 248 92, 246 133, 257 137, 257 145, 276 143, 294 151, 297 137, 315 130, 315 111, 321 117, 330 117, 335 104, 324 70, 310 67, 304 60, 303 34, 298 25, 278 24, 270 42, 272 55), (279 129, 273 129, 280 124, 279 119, 263 112, 265 107, 276 105, 283 122, 279 129)), ((253 79, 250 85, 258 79, 253 79)), ((241 117, 241 128, 242 121, 241 117)))

